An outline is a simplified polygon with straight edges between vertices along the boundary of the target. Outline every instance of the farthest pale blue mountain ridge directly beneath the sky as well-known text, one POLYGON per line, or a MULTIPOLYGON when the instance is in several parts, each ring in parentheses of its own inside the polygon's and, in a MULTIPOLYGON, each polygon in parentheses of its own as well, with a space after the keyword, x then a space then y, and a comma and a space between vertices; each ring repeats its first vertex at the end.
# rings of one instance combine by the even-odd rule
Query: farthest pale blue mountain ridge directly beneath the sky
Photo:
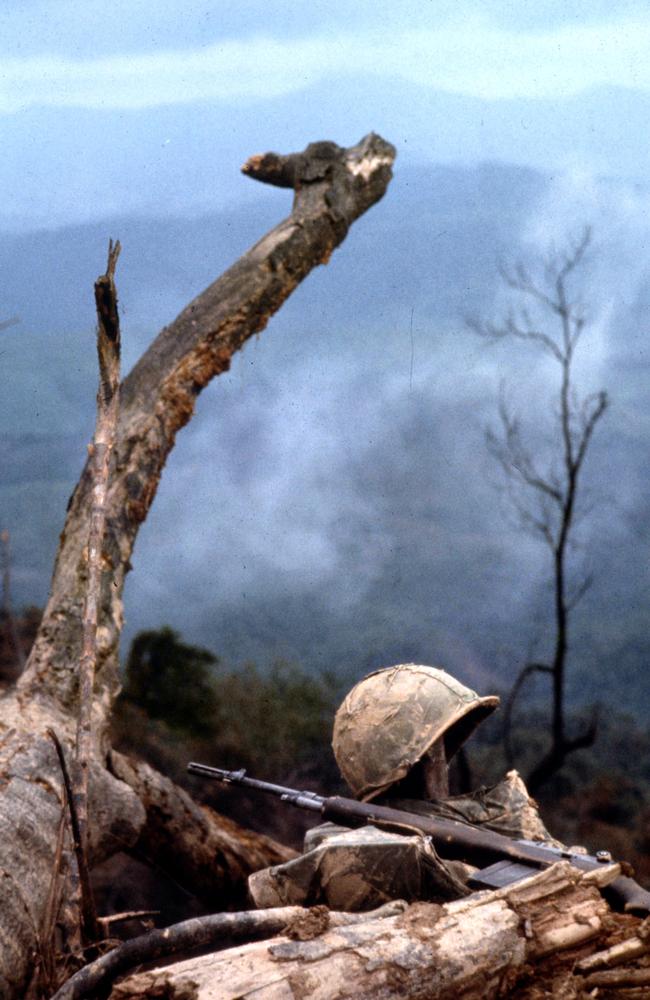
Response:
MULTIPOLYGON (((558 100, 481 100, 399 78, 337 78, 285 97, 142 111, 40 109, 2 117, 0 229, 115 215, 187 217, 255 200, 238 166, 310 139, 371 129, 405 166, 494 161, 643 182, 650 96, 599 87, 558 100)), ((273 198, 269 194, 267 203, 273 198)))

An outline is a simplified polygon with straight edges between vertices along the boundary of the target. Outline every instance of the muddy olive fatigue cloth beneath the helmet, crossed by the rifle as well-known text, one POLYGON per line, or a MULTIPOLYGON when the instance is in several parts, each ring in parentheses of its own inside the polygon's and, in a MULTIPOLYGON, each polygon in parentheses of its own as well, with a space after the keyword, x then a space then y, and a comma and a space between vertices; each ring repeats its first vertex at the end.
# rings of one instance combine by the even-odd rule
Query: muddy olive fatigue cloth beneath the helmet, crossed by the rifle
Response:
MULTIPOLYGON (((516 771, 471 795, 436 802, 386 797, 381 802, 421 816, 458 819, 509 837, 563 846, 542 823, 516 771)), ((471 891, 466 883, 474 871, 470 864, 440 858, 423 835, 323 823, 307 832, 299 857, 255 872, 248 886, 255 905, 262 908, 324 903, 333 910, 360 911, 391 899, 458 899, 471 891)))

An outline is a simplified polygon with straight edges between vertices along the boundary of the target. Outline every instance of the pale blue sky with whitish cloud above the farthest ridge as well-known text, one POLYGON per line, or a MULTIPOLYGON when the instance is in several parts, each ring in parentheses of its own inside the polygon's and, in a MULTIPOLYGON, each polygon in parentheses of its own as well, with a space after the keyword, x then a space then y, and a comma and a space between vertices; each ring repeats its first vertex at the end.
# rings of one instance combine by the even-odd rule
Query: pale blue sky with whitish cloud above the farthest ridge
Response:
POLYGON ((358 74, 490 100, 650 89, 650 11, 634 3, 120 0, 107 21, 95 0, 9 0, 0 38, 4 113, 245 103, 358 74))

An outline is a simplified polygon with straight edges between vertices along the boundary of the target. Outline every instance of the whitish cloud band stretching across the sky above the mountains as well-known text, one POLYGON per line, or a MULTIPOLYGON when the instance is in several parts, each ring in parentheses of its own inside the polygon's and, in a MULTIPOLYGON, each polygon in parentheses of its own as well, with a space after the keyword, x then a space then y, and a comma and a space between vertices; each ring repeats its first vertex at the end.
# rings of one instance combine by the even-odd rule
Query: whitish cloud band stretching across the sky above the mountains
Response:
POLYGON ((650 90, 650 18, 513 31, 483 17, 431 28, 255 35, 101 58, 7 57, 0 111, 123 109, 280 96, 319 80, 401 77, 490 100, 562 98, 610 85, 650 90))

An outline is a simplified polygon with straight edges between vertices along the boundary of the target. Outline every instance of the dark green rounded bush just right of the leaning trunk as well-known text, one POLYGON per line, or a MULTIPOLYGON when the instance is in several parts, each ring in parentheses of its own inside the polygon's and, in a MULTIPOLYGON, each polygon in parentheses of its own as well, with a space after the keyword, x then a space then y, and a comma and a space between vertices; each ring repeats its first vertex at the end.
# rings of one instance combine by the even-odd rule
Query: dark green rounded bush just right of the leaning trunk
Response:
POLYGON ((211 673, 216 663, 213 653, 186 645, 167 626, 140 632, 129 652, 122 698, 171 729, 208 736, 217 710, 211 673))

